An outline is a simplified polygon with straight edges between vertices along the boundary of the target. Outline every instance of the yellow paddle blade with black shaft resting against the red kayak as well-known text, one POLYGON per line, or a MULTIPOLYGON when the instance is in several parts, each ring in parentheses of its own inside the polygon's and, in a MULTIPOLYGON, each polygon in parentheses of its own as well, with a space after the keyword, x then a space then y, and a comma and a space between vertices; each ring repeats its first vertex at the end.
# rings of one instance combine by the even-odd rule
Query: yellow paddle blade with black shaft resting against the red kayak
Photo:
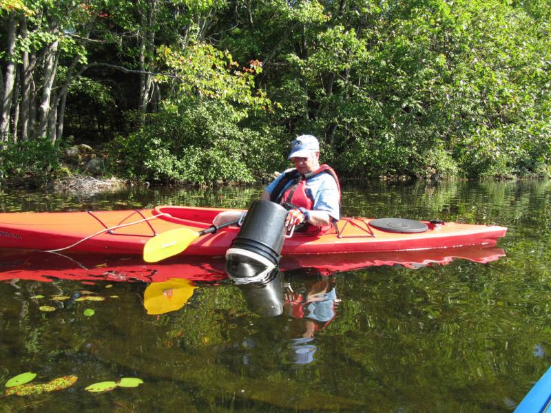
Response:
POLYGON ((190 228, 178 228, 160 233, 145 243, 143 247, 143 260, 145 262, 158 262, 172 255, 179 254, 198 237, 216 233, 216 231, 226 226, 238 224, 239 221, 240 219, 225 222, 218 226, 211 225, 209 228, 203 229, 202 231, 194 231, 190 228))

